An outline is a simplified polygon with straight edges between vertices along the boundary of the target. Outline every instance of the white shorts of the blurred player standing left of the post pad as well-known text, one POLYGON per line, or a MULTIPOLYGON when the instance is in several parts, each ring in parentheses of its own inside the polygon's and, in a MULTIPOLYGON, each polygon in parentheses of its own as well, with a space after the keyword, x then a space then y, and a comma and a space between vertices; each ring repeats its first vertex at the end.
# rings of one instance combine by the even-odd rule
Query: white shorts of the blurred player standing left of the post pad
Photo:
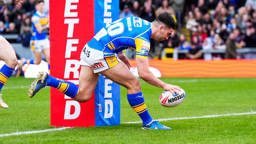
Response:
POLYGON ((50 48, 50 41, 48 38, 43 40, 31 40, 30 47, 33 52, 42 52, 43 49, 50 48))

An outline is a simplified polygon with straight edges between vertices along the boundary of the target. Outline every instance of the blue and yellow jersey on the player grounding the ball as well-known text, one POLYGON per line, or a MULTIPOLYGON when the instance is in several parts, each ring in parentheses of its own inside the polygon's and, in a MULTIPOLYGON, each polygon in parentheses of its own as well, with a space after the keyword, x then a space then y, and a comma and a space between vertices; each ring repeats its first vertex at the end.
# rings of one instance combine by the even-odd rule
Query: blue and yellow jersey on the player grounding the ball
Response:
POLYGON ((136 58, 147 59, 151 32, 150 22, 132 16, 102 28, 87 44, 106 53, 118 53, 130 48, 136 50, 136 58))

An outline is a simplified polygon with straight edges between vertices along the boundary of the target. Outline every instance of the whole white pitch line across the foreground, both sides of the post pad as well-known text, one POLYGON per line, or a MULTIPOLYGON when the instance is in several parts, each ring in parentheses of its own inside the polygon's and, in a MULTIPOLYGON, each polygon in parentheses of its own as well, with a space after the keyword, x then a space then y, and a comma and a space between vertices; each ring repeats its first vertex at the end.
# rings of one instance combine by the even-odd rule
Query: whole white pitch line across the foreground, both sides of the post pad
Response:
MULTIPOLYGON (((252 110, 251 110, 252 111, 252 110)), ((159 121, 168 121, 168 120, 180 120, 180 119, 197 119, 197 118, 211 118, 211 117, 221 117, 221 116, 233 116, 233 115, 249 115, 249 114, 256 114, 256 112, 247 112, 247 113, 234 113, 234 114, 222 114, 222 115, 208 115, 208 116, 198 116, 198 117, 181 117, 181 118, 167 118, 167 119, 158 119, 159 121)), ((125 124, 135 124, 141 123, 142 121, 135 121, 135 122, 123 122, 125 124)), ((27 132, 16 132, 10 134, 0 134, 0 137, 4 136, 15 136, 15 135, 23 135, 23 134, 33 134, 33 133, 43 133, 49 131, 57 131, 57 130, 65 130, 72 127, 62 127, 62 128, 55 128, 55 129, 46 129, 40 131, 27 131, 27 132)))

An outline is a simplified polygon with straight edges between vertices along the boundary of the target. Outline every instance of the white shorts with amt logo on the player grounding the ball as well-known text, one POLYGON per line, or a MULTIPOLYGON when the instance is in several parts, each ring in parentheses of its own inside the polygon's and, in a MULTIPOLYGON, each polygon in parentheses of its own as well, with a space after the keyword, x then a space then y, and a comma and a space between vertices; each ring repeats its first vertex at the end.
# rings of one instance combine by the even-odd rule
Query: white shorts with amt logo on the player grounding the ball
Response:
POLYGON ((94 73, 101 72, 117 65, 121 60, 115 53, 105 53, 93 48, 87 44, 84 46, 80 55, 80 65, 90 66, 94 73))

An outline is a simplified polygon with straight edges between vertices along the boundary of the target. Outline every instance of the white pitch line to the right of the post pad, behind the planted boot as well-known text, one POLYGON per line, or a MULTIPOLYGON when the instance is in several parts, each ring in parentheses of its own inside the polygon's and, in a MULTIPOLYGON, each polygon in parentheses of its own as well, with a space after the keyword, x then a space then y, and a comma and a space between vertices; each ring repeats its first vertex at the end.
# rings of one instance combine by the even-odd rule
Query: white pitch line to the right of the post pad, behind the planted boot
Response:
MULTIPOLYGON (((251 110, 252 111, 252 110, 251 110)), ((198 116, 198 117, 181 117, 181 118, 167 118, 167 119, 158 119, 159 121, 168 121, 168 120, 181 120, 181 119, 197 119, 197 118, 212 118, 212 117, 221 117, 221 116, 233 116, 233 115, 249 115, 256 114, 256 112, 248 112, 248 113, 234 113, 234 114, 222 114, 222 115, 208 115, 208 116, 198 116)), ((136 122, 124 122, 126 124, 135 124, 142 123, 142 121, 136 122)))

